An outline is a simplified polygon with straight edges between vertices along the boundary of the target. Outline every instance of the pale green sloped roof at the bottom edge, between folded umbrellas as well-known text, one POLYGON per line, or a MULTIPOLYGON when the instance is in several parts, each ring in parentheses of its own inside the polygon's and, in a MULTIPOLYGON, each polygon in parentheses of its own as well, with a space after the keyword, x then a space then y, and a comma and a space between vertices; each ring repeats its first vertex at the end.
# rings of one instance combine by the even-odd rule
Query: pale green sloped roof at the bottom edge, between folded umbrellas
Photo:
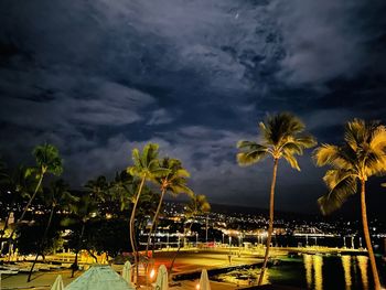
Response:
POLYGON ((110 266, 97 265, 72 281, 65 290, 133 290, 110 266))

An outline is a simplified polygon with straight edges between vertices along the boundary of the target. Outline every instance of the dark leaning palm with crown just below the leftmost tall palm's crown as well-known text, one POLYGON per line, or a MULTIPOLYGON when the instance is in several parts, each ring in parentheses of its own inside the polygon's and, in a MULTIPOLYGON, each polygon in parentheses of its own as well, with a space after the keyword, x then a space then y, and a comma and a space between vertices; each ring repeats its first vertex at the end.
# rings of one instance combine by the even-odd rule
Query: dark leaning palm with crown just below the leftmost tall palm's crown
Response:
POLYGON ((43 191, 43 201, 47 206, 50 206, 50 217, 44 229, 42 243, 40 244, 40 248, 36 251, 35 260, 32 264, 29 277, 26 279, 28 282, 31 281, 32 271, 37 261, 39 256, 40 255, 43 256, 43 250, 46 244, 49 229, 51 227, 51 223, 52 223, 52 218, 54 216, 55 210, 57 207, 69 208, 69 204, 77 202, 78 198, 71 194, 69 185, 67 183, 65 183, 63 180, 57 180, 51 184, 51 187, 47 191, 43 191))

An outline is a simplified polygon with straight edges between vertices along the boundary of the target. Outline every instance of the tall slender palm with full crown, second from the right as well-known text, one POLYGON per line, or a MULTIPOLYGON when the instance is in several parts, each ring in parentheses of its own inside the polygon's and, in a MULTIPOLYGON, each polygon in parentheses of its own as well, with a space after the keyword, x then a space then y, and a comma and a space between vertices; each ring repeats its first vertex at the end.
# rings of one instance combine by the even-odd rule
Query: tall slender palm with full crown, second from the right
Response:
POLYGON ((317 142, 312 136, 303 133, 305 129, 304 123, 298 117, 289 112, 268 116, 266 122, 260 122, 259 127, 261 143, 255 141, 239 141, 237 148, 240 149, 240 152, 237 153, 237 161, 240 167, 246 167, 257 163, 267 157, 274 159, 267 247, 258 282, 258 284, 261 284, 267 267, 274 230, 274 197, 279 159, 283 158, 293 169, 300 171, 294 155, 301 155, 305 148, 311 148, 315 146, 317 142))

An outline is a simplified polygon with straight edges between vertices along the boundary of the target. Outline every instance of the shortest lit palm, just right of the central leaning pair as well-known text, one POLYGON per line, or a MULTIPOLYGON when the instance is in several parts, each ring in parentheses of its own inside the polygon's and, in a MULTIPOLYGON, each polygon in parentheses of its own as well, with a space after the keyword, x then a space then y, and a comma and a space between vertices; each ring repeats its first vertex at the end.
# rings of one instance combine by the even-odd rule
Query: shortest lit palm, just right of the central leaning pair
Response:
MULTIPOLYGON (((192 230, 192 226, 193 226, 193 222, 194 222, 193 218, 197 215, 208 213, 210 211, 211 211, 211 204, 207 202, 207 198, 204 194, 196 194, 196 195, 193 194, 191 196, 191 198, 185 207, 185 217, 192 218, 192 222, 191 222, 187 229, 184 228, 184 239, 186 236, 186 232, 192 230)), ((176 249, 176 253, 175 253, 173 260, 170 265, 170 269, 169 269, 170 279, 172 278, 172 270, 173 270, 174 261, 175 261, 176 256, 179 255, 180 250, 181 250, 181 245, 179 245, 179 248, 176 249)))

